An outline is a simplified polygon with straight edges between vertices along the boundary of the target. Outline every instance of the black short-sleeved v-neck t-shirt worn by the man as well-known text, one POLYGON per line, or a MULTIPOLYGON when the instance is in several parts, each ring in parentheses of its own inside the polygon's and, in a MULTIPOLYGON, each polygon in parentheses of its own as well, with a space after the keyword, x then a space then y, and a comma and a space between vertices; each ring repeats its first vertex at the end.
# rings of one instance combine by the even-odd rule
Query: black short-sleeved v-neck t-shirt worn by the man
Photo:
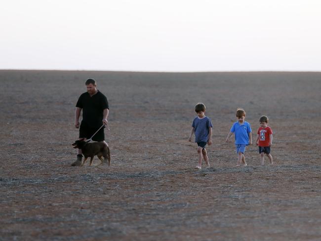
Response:
POLYGON ((107 98, 99 90, 90 97, 88 92, 80 95, 76 107, 82 109, 81 124, 100 127, 103 124, 104 109, 109 109, 107 98))

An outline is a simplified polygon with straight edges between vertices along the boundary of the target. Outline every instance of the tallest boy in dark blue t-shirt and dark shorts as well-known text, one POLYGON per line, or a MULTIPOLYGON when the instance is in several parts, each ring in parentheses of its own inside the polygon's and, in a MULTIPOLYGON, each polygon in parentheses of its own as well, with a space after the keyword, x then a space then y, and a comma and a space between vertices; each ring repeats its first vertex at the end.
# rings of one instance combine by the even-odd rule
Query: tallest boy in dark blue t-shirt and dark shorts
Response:
POLYGON ((201 169, 201 162, 204 159, 206 167, 210 167, 207 157, 207 152, 205 149, 206 144, 212 144, 212 122, 205 116, 205 105, 203 103, 198 103, 195 106, 195 112, 197 117, 193 120, 192 131, 190 134, 189 141, 191 141, 193 133, 195 133, 195 142, 198 144, 197 152, 199 154, 199 164, 195 167, 201 169))

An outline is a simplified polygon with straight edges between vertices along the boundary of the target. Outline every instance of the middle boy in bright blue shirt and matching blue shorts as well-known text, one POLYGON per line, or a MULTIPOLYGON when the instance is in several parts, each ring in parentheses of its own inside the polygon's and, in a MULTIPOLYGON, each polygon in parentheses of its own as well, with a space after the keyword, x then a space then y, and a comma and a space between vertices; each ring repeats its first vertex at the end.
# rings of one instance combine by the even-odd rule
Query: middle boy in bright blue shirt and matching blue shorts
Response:
POLYGON ((243 109, 239 108, 237 110, 236 117, 238 121, 232 125, 231 130, 226 137, 226 142, 229 142, 229 138, 235 133, 235 145, 238 154, 237 166, 240 166, 241 162, 246 166, 244 152, 247 145, 252 145, 251 125, 245 121, 245 111, 243 109))

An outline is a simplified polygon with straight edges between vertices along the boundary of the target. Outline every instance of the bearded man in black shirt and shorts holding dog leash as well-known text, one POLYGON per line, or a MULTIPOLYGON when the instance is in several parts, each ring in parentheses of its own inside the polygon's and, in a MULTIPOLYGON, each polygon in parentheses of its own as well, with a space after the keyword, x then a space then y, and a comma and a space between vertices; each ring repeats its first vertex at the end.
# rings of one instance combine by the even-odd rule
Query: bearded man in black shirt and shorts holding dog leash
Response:
MULTIPOLYGON (((97 89, 97 83, 93 79, 85 82, 87 92, 80 95, 75 112, 75 127, 79 129, 79 138, 89 139, 103 124, 108 124, 109 114, 108 101, 97 89), (82 121, 79 123, 80 113, 82 110, 82 121)), ((93 141, 105 142, 104 128, 101 128, 93 137, 93 141)), ((108 145, 107 145, 108 146, 108 145)), ((82 164, 81 149, 78 149, 77 161, 71 165, 82 164)))

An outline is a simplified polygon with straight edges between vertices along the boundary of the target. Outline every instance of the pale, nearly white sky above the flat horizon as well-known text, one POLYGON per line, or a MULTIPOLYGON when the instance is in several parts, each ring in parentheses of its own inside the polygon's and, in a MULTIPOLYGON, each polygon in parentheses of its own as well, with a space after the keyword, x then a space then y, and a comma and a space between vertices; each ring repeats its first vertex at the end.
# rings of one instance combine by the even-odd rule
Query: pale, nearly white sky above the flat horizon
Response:
POLYGON ((320 0, 0 3, 0 69, 321 71, 320 0))

